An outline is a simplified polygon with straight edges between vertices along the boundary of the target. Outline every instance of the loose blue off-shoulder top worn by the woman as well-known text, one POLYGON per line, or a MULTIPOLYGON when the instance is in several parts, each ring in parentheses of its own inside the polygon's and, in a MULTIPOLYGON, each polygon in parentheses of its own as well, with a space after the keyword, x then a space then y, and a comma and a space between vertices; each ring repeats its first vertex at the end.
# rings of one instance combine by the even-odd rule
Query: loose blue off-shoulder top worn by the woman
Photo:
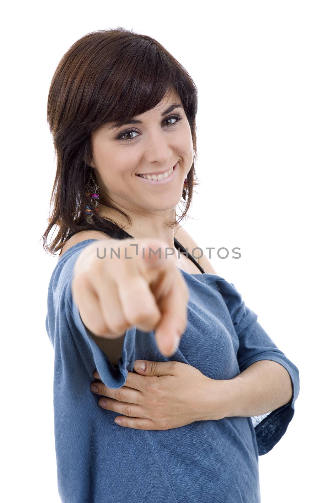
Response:
MULTIPOLYGON (((55 351, 54 425, 58 491, 66 503, 260 502, 258 456, 284 435, 299 393, 297 367, 280 351, 232 283, 214 274, 182 275, 189 288, 188 322, 172 357, 154 332, 127 330, 119 369, 95 344, 71 294, 73 267, 96 239, 68 248, 52 273, 46 329, 55 351), (178 361, 211 379, 232 379, 259 360, 288 371, 290 403, 257 417, 195 421, 171 430, 114 423, 117 412, 90 391, 97 369, 109 388, 122 387, 134 361, 178 361)), ((120 415, 120 414, 119 414, 120 415)))

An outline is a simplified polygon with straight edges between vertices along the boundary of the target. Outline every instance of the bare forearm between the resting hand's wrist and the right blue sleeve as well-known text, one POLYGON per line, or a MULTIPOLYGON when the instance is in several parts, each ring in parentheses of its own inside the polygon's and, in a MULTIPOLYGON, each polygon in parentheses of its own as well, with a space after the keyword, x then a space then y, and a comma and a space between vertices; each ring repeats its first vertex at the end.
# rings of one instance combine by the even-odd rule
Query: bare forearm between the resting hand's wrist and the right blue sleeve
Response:
POLYGON ((293 392, 285 367, 271 360, 255 362, 233 379, 215 383, 216 418, 271 412, 288 403, 293 392))

